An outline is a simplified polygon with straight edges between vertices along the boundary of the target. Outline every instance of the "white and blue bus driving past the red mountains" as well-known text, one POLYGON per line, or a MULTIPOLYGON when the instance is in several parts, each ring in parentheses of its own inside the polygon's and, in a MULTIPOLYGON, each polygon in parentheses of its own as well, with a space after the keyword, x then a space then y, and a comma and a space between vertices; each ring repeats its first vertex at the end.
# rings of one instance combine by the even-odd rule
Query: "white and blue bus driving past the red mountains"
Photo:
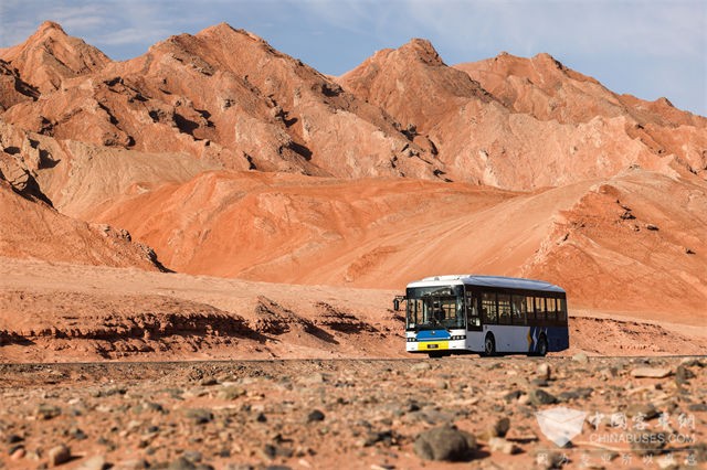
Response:
POLYGON ((569 348, 567 295, 552 284, 478 275, 426 277, 393 300, 405 301, 407 350, 451 354, 546 355, 569 348))

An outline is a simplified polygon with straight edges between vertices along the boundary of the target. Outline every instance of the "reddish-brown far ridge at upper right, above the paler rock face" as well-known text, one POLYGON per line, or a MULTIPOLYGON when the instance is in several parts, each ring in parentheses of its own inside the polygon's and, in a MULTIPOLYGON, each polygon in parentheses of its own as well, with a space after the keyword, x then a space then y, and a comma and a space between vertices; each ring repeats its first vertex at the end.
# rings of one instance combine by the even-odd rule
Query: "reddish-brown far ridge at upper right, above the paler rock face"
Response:
POLYGON ((548 54, 532 58, 503 53, 456 65, 515 113, 544 121, 587 124, 623 119, 624 132, 655 156, 675 156, 679 167, 701 173, 707 167, 707 119, 673 107, 665 98, 650 103, 616 95, 594 78, 567 68, 548 54))

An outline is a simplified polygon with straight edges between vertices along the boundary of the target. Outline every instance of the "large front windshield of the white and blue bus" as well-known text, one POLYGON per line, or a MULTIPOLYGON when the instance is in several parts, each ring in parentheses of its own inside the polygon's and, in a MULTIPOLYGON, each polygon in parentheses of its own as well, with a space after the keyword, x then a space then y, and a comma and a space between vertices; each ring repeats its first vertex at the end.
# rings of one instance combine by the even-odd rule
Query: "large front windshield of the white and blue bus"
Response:
POLYGON ((462 286, 409 288, 405 328, 412 331, 465 328, 463 292, 462 286))

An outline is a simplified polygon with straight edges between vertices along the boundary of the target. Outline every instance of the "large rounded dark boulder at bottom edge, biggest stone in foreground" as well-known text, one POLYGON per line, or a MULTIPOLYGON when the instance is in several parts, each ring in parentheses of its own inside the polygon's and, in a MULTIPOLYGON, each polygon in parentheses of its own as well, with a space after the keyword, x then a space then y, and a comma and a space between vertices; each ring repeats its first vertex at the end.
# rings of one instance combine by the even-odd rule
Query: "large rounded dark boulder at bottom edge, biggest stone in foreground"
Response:
POLYGON ((449 425, 421 432, 413 449, 425 460, 460 461, 476 449, 476 438, 449 425))

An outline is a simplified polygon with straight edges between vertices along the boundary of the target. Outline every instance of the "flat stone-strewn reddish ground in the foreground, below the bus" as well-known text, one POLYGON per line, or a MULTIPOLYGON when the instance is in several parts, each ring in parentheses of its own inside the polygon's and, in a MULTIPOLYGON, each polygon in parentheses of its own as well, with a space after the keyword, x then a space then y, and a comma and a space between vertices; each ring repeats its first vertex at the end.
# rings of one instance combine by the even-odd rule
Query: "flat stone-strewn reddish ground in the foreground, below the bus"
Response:
POLYGON ((704 361, 0 365, 0 467, 704 468, 704 361))

